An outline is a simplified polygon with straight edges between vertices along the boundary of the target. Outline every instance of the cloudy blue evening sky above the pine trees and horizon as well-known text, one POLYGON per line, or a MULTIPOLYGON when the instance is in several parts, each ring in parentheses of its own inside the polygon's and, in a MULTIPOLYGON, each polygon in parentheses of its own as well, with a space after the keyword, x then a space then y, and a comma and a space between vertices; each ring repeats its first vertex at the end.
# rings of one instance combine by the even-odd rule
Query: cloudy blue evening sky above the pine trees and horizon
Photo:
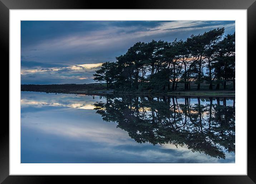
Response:
POLYGON ((21 84, 94 83, 136 42, 186 40, 235 21, 21 21, 21 84))

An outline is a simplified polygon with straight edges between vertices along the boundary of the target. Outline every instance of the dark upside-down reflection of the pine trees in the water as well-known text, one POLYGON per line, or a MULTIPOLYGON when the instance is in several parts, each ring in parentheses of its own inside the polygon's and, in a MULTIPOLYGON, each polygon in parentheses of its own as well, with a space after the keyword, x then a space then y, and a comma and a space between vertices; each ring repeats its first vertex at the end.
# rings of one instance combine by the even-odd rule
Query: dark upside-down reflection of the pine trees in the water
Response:
POLYGON ((222 159, 226 151, 235 152, 235 98, 104 98, 94 104, 96 113, 106 122, 117 122, 138 143, 186 145, 192 152, 222 159), (227 99, 233 100, 231 106, 227 99))

